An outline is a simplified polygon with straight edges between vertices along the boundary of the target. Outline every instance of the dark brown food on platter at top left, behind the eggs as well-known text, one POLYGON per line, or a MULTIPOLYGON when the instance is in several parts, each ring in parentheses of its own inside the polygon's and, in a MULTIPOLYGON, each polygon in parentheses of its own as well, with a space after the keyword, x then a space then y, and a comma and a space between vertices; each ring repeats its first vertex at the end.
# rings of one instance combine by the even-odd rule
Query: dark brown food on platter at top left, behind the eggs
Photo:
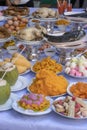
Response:
POLYGON ((28 7, 15 7, 15 6, 10 6, 5 10, 2 10, 2 13, 4 16, 27 16, 29 15, 29 8, 28 7))

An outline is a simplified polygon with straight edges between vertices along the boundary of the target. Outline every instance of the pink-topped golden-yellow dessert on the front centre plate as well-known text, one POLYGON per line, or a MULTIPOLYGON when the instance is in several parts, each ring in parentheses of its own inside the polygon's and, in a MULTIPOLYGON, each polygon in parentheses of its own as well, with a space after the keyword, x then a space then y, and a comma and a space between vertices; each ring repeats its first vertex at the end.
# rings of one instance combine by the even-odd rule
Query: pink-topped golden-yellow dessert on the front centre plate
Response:
POLYGON ((41 94, 25 94, 18 101, 18 105, 24 109, 33 110, 35 112, 45 111, 49 108, 50 102, 41 94))

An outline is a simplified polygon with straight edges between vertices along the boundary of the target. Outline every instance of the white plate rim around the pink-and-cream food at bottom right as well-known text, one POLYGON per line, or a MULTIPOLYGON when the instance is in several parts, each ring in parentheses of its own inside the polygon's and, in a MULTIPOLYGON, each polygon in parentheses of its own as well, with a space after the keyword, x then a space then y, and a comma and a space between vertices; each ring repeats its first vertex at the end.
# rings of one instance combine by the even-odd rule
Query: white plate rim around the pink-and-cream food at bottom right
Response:
MULTIPOLYGON (((62 97, 57 98, 56 100, 54 100, 54 102, 57 101, 57 100, 60 100, 60 99, 62 99, 62 100, 65 99, 65 96, 62 96, 62 97)), ((58 115, 60 115, 60 116, 62 116, 62 117, 65 117, 65 118, 75 119, 75 120, 78 120, 78 119, 87 119, 87 117, 75 118, 75 117, 65 116, 65 115, 63 115, 63 114, 57 112, 57 111, 55 110, 54 105, 52 105, 52 110, 53 110, 55 113, 57 113, 58 115)))

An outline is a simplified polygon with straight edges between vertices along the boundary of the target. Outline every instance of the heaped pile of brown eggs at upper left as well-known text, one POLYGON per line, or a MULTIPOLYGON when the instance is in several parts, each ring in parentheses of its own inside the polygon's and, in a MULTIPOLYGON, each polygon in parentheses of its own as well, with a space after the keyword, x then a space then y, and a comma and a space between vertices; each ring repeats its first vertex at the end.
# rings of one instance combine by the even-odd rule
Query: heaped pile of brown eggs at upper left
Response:
POLYGON ((14 16, 6 21, 4 27, 12 34, 16 34, 19 30, 26 28, 28 24, 27 18, 22 18, 20 15, 14 16))

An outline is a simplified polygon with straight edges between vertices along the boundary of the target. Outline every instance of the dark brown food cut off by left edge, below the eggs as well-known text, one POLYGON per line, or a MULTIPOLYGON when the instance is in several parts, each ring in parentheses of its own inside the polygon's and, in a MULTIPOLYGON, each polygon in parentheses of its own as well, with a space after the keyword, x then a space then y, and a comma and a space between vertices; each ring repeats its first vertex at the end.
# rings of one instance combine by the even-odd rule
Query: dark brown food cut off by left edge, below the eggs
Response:
POLYGON ((0 27, 0 40, 8 39, 11 37, 11 34, 4 27, 0 27))

